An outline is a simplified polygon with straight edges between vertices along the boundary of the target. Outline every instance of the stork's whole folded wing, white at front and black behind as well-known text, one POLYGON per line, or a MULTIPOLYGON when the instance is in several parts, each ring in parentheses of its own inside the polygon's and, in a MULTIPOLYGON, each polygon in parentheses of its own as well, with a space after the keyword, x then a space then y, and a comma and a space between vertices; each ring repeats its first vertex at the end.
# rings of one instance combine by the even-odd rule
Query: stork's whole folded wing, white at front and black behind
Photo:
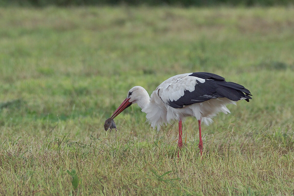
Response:
POLYGON ((168 78, 158 87, 158 96, 173 108, 200 103, 213 98, 226 97, 233 101, 252 99, 244 86, 226 82, 225 78, 213 73, 185 73, 168 78))

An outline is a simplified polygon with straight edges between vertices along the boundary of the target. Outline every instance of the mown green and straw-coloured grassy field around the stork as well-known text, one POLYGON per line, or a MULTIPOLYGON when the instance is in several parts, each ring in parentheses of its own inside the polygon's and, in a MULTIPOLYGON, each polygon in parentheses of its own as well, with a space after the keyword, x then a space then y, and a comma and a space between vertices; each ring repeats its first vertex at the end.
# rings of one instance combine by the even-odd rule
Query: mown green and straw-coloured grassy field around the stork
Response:
POLYGON ((0 8, 0 195, 294 195, 294 8, 0 8), (253 100, 157 132, 136 85, 205 71, 253 100), (76 171, 76 173, 75 173, 76 171))

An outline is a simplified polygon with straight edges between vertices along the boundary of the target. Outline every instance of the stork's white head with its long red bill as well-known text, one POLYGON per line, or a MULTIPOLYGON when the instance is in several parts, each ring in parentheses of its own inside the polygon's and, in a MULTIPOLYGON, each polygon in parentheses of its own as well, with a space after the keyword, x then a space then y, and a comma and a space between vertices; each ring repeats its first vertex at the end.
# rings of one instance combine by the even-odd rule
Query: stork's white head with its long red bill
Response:
POLYGON ((133 103, 137 103, 138 106, 143 109, 147 103, 149 103, 148 92, 142 86, 134 86, 128 91, 127 98, 123 100, 123 103, 115 110, 111 118, 115 118, 124 109, 128 108, 133 103))

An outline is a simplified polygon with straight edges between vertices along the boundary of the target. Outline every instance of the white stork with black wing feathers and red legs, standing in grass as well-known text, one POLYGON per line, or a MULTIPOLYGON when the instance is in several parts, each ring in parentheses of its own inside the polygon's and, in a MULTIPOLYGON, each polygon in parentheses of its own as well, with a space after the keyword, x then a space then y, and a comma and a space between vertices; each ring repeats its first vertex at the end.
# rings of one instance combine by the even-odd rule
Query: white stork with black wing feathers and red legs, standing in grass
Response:
MULTIPOLYGON (((124 109, 137 103, 145 112, 151 126, 159 130, 161 125, 171 120, 179 121, 178 149, 182 142, 182 120, 194 116, 199 125, 200 155, 203 142, 201 138, 201 121, 207 125, 218 112, 230 113, 227 104, 235 104, 238 100, 252 99, 250 91, 244 86, 226 82, 225 78, 213 73, 184 73, 168 78, 161 83, 149 98, 148 92, 141 86, 134 86, 128 91, 127 98, 116 109, 111 118, 115 118, 124 109)), ((179 151, 178 151, 179 157, 179 151)))

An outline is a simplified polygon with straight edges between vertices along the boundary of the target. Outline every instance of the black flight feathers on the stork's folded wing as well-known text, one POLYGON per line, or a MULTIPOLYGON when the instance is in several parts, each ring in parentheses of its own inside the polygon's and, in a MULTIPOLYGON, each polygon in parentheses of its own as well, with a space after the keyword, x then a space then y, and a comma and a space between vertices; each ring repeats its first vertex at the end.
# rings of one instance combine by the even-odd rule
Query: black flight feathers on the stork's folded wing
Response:
POLYGON ((245 98, 249 102, 252 99, 251 93, 244 86, 234 83, 226 82, 225 78, 218 76, 214 73, 207 72, 195 72, 189 76, 205 79, 204 83, 198 82, 195 86, 195 90, 184 91, 184 95, 178 100, 169 101, 168 105, 173 108, 183 108, 184 105, 191 105, 193 103, 201 103, 213 98, 226 97, 233 101, 238 101, 241 98, 245 98))

